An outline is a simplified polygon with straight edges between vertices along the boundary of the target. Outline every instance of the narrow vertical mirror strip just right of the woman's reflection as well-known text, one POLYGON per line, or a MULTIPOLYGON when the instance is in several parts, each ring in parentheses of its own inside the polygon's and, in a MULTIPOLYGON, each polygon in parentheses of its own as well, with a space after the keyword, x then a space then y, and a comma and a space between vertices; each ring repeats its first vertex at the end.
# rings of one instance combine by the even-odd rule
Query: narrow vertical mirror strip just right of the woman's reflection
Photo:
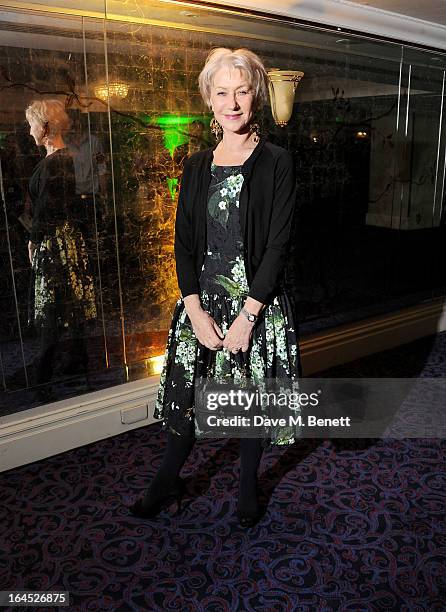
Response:
POLYGON ((103 20, 83 19, 83 82, 72 104, 78 128, 77 141, 73 143, 80 170, 77 191, 83 194, 84 233, 97 296, 98 317, 90 349, 97 364, 90 374, 94 388, 128 380, 118 244, 120 216, 116 209, 104 37, 103 20))

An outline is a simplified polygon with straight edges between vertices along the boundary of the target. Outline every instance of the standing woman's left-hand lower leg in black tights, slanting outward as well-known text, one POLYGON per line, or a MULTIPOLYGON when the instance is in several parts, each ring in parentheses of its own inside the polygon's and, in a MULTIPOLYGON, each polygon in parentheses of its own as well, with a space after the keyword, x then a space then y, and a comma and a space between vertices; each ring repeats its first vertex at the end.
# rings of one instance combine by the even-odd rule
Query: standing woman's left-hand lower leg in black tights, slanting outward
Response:
POLYGON ((181 468, 189 457, 195 444, 195 435, 178 435, 167 432, 167 443, 161 465, 155 474, 142 505, 148 507, 168 493, 174 486, 181 468))

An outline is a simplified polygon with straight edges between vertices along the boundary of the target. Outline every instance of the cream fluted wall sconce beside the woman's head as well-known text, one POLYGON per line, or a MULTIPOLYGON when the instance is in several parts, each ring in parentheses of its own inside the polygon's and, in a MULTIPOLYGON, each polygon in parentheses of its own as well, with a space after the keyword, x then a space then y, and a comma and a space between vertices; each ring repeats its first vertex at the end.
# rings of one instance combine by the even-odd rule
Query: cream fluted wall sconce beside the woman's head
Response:
POLYGON ((293 113, 294 94, 304 72, 300 70, 268 70, 271 111, 276 125, 284 127, 293 113))

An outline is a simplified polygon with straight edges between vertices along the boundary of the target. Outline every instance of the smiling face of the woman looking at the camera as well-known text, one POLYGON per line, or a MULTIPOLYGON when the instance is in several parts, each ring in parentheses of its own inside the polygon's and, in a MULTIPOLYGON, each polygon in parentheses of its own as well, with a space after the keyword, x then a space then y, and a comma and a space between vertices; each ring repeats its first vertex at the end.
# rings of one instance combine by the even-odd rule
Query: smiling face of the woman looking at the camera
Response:
POLYGON ((254 112, 254 91, 239 68, 220 68, 214 75, 210 98, 215 118, 223 130, 243 133, 254 112))

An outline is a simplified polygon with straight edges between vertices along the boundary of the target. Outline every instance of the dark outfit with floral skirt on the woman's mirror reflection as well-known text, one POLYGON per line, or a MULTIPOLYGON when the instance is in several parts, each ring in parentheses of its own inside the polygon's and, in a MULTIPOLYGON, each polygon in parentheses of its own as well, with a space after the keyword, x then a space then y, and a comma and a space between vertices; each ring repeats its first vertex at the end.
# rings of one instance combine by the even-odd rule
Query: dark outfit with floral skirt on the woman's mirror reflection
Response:
POLYGON ((43 158, 29 182, 36 244, 29 290, 28 323, 54 326, 77 336, 78 326, 97 317, 93 277, 76 220, 74 163, 62 148, 43 158))

